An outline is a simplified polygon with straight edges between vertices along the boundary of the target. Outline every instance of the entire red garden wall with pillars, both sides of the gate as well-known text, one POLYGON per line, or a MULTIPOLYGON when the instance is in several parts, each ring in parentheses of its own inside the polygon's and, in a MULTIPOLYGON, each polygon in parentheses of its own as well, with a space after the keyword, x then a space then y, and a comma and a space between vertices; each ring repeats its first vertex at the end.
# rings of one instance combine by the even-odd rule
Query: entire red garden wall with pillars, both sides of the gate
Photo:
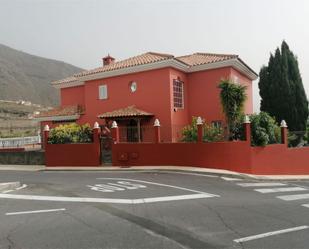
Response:
MULTIPOLYGON (((159 143, 160 126, 154 127, 154 143, 119 143, 118 127, 112 129, 113 166, 195 166, 259 175, 309 174, 309 147, 288 148, 287 128, 283 144, 251 147, 250 123, 245 123, 246 141, 213 143, 159 143)), ((198 128, 199 129, 199 128, 198 128)), ((202 134, 198 141, 201 141, 202 134)), ((45 131, 45 137, 48 131, 45 131)), ((99 129, 90 144, 46 144, 47 166, 99 166, 99 129)), ((44 141, 47 141, 45 139, 44 141)))

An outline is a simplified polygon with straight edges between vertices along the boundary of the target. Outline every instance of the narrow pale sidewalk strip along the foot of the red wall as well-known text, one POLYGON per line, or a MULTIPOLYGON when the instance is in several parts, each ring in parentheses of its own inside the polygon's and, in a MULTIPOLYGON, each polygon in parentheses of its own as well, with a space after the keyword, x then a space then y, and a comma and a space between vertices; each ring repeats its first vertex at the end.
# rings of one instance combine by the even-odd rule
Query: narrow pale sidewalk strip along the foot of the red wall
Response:
POLYGON ((309 175, 252 175, 223 169, 199 168, 190 166, 132 166, 132 167, 46 167, 44 165, 0 165, 0 171, 182 171, 235 178, 251 178, 257 180, 309 180, 309 175))

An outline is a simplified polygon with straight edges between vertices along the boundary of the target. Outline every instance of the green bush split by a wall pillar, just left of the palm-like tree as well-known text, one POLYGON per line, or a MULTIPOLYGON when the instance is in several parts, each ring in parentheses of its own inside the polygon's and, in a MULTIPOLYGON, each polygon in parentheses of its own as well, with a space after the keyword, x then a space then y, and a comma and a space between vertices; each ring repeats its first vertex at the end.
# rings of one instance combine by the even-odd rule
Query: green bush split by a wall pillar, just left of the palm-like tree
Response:
MULTIPOLYGON (((223 140, 223 131, 221 128, 214 127, 207 123, 203 124, 203 142, 216 142, 223 140)), ((192 117, 191 125, 182 129, 182 142, 197 141, 197 117, 192 117)))

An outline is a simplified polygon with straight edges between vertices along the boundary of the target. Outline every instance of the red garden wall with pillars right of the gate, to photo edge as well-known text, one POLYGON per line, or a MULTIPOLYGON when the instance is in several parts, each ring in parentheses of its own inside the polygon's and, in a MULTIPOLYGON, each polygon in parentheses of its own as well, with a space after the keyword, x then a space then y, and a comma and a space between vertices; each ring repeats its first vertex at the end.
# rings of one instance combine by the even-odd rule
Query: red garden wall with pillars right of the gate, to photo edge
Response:
MULTIPOLYGON (((282 144, 251 147, 250 123, 244 125, 247 141, 115 143, 112 149, 113 165, 195 166, 260 175, 309 174, 309 147, 288 148, 287 128, 285 126, 281 128, 282 144)), ((157 127, 157 129, 160 128, 157 127)), ((160 139, 158 138, 156 141, 160 141, 160 139)))

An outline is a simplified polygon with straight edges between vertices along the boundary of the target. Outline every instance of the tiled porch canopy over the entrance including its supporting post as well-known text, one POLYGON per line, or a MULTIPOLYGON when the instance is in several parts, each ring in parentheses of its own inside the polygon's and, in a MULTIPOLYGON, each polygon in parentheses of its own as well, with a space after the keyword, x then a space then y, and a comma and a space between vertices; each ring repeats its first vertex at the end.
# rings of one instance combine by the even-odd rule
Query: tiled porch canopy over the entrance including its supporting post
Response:
POLYGON ((98 115, 98 118, 105 120, 135 120, 137 123, 137 137, 138 141, 141 141, 141 120, 153 117, 154 114, 140 110, 135 105, 131 105, 125 108, 120 108, 111 112, 105 112, 98 115))

